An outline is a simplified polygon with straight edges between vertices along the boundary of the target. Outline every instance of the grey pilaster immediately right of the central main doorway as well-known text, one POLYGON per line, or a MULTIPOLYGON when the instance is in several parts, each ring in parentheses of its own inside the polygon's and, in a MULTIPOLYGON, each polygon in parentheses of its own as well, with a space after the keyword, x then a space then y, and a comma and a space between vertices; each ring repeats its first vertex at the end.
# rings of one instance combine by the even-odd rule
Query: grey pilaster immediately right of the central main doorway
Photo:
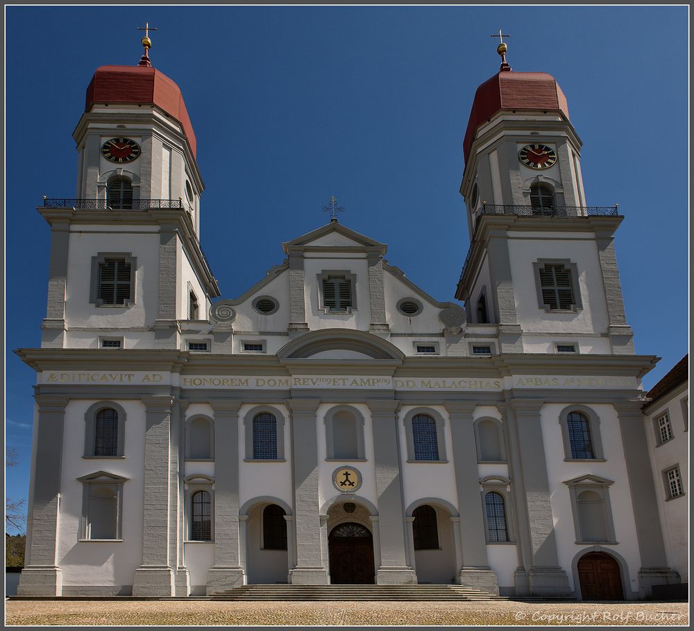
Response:
POLYGON ((416 573, 407 564, 405 552, 405 510, 397 416, 400 402, 394 399, 373 399, 366 403, 371 410, 373 428, 380 537, 381 564, 376 570, 376 582, 379 585, 415 585, 416 573))

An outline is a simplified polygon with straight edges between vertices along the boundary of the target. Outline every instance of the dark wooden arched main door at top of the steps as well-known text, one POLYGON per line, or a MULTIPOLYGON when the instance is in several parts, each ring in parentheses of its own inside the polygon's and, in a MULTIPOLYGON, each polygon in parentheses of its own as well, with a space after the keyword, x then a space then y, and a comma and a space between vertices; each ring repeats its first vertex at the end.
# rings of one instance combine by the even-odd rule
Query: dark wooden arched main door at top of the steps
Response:
POLYGON ((353 521, 338 524, 328 535, 330 582, 339 585, 373 585, 373 537, 353 521))

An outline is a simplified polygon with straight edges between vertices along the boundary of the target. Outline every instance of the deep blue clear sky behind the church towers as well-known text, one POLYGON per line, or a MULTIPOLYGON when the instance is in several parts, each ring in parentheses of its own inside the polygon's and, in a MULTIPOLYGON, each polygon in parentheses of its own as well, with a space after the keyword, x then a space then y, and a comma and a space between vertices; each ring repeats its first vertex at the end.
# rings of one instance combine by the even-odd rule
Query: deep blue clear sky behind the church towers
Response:
POLYGON ((584 143, 590 205, 618 202, 616 251, 636 352, 686 353, 688 13, 684 7, 9 7, 6 9, 6 440, 10 496, 26 496, 33 370, 49 227, 42 196, 75 194, 71 133, 102 64, 136 64, 136 26, 183 90, 207 189, 201 241, 223 297, 282 261, 282 241, 340 221, 452 300, 468 249, 458 193, 489 35, 511 33, 516 71, 545 71, 584 143))

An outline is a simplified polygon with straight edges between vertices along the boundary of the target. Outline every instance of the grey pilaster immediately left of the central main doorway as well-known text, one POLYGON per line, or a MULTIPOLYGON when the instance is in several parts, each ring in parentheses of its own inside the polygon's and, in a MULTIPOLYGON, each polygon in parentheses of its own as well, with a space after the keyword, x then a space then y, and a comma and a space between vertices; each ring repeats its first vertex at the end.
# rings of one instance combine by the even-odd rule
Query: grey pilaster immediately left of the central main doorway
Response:
POLYGON ((323 561, 320 499, 318 494, 318 439, 316 410, 319 399, 287 399, 291 410, 291 466, 294 472, 296 567, 289 570, 294 585, 328 585, 323 561))

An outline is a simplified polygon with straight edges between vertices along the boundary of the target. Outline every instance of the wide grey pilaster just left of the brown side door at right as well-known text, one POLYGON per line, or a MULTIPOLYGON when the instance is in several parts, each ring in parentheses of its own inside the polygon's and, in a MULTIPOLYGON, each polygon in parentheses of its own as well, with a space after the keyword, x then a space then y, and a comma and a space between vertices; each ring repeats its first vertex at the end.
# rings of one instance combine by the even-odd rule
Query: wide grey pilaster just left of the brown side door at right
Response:
MULTIPOLYGON (((509 399, 507 426, 511 448, 511 489, 516 497, 519 538, 531 596, 570 592, 559 566, 547 463, 542 439, 541 399, 509 399)), ((518 575, 521 576, 521 575, 518 575)), ((516 585, 518 589, 518 585, 516 585)))

